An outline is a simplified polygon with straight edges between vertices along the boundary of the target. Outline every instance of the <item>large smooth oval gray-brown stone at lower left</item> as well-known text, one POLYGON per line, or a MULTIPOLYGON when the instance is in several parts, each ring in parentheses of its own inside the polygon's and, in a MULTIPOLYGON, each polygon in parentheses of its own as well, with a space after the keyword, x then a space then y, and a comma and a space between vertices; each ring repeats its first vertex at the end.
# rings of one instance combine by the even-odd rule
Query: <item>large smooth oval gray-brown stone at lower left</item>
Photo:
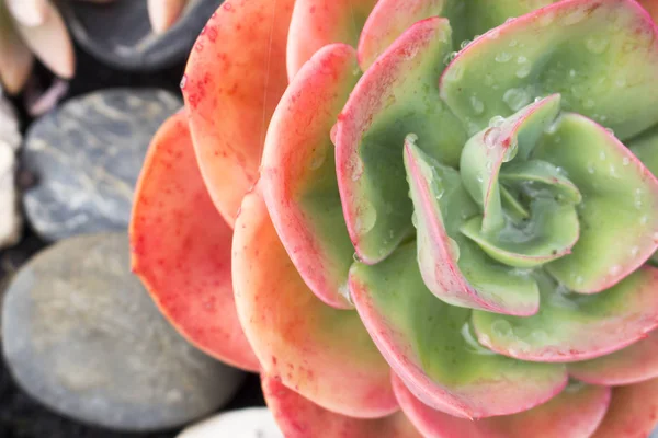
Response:
POLYGON ((78 420, 155 430, 208 415, 245 373, 188 344, 131 275, 125 233, 75 237, 14 276, 3 353, 34 399, 78 420))

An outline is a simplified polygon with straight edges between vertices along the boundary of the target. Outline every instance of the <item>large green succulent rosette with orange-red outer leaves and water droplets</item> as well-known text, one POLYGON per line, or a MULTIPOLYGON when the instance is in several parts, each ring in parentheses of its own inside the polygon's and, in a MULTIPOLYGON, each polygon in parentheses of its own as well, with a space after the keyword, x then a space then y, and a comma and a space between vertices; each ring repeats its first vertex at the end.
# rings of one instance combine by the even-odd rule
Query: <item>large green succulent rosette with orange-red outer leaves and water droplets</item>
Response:
POLYGON ((657 36, 634 0, 229 0, 134 269, 288 437, 647 436, 657 36))

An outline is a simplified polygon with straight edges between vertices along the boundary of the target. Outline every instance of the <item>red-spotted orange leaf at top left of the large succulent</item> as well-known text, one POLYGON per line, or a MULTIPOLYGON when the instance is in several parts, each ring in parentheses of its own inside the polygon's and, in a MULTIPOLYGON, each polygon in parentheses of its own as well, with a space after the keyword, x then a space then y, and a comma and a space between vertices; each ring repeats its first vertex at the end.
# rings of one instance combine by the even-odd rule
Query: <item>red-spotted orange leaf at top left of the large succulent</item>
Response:
POLYGON ((201 173, 232 227, 258 177, 270 117, 286 85, 294 0, 227 0, 208 21, 181 82, 201 173))

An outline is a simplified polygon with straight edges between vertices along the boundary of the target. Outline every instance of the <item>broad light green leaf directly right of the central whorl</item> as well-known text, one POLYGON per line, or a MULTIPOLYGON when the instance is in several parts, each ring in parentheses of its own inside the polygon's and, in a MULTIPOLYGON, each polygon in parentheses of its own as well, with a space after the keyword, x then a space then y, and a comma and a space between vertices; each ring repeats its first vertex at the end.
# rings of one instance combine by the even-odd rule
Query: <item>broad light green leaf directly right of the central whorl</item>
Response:
POLYGON ((656 251, 658 181, 614 136, 565 114, 532 157, 563 169, 582 195, 578 243, 546 266, 569 289, 606 289, 656 251))

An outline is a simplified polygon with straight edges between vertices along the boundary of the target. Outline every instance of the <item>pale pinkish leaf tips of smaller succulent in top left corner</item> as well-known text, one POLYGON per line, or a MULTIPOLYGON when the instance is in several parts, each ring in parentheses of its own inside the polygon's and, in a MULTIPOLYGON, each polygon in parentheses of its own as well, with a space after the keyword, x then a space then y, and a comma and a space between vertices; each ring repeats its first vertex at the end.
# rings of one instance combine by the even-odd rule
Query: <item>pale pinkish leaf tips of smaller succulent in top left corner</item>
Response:
MULTIPOLYGON (((109 3, 113 0, 83 0, 109 3)), ((154 31, 175 23, 188 0, 149 0, 154 31)), ((23 89, 36 56, 64 79, 75 72, 75 54, 66 24, 52 0, 0 0, 0 85, 10 94, 23 89)))

